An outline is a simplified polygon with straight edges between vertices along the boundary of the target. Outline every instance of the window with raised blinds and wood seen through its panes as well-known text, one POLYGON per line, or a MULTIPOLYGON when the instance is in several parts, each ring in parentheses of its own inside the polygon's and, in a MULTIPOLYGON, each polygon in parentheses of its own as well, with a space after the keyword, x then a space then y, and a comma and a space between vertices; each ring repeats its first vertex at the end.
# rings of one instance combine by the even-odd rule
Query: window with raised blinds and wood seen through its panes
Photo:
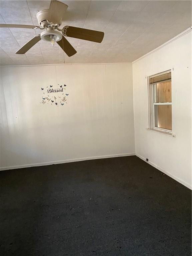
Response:
POLYGON ((148 77, 149 129, 172 132, 171 70, 148 77))

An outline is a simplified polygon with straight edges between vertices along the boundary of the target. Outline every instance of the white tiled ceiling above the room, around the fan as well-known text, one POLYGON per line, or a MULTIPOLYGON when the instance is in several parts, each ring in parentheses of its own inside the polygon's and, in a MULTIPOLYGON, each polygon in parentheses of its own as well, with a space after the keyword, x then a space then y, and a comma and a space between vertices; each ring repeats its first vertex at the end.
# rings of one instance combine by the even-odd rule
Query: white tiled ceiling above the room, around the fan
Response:
MULTIPOLYGON (((132 62, 191 26, 191 1, 62 1, 69 7, 62 26, 105 32, 102 43, 67 38, 77 50, 68 57, 56 44, 39 41, 26 54, 15 52, 32 29, 0 28, 0 64, 132 62)), ((0 1, 0 23, 38 25, 36 13, 50 1, 0 1)), ((61 27, 62 27, 61 26, 61 27)))

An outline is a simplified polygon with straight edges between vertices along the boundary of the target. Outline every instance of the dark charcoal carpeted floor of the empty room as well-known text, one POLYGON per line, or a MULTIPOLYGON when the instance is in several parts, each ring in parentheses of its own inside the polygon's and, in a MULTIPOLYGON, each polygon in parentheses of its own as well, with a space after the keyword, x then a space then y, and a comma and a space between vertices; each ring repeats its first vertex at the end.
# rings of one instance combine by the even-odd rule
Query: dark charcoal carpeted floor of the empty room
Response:
POLYGON ((2 171, 0 187, 1 255, 191 256, 191 190, 136 156, 2 171))

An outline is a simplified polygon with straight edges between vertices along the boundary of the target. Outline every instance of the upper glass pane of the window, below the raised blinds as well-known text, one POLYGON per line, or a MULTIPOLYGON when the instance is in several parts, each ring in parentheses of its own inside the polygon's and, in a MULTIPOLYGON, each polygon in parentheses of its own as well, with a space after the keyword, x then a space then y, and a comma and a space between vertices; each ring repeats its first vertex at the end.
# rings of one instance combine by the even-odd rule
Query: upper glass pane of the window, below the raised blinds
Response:
POLYGON ((155 86, 155 102, 171 102, 171 81, 157 83, 155 86))

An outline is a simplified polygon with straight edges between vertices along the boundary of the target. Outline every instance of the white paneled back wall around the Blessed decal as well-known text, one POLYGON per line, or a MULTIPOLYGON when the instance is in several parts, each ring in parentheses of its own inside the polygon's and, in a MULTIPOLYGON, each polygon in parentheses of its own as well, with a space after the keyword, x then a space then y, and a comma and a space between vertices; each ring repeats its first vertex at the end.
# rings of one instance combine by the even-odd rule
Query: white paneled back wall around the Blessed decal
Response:
POLYGON ((132 64, 1 67, 0 135, 1 169, 134 154, 132 64), (68 104, 40 104, 57 84, 68 104))

